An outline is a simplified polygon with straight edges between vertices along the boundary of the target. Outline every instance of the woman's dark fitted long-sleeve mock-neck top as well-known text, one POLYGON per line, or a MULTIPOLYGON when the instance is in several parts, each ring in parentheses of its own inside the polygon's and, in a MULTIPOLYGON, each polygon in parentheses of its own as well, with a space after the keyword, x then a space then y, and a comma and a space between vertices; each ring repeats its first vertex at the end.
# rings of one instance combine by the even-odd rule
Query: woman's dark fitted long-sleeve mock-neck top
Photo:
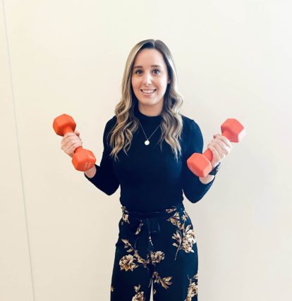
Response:
MULTIPOLYGON (((138 106, 134 109, 149 137, 162 121, 162 116, 146 116, 138 106)), ((128 155, 121 149, 118 161, 109 156, 111 148, 107 134, 116 124, 116 116, 111 118, 104 129, 104 151, 100 166, 95 164, 97 172, 90 180, 99 190, 112 195, 121 186, 120 202, 130 211, 157 211, 183 202, 183 193, 192 203, 202 199, 214 183, 214 179, 203 184, 193 174, 186 160, 194 153, 202 154, 203 138, 199 125, 192 119, 183 116, 183 133, 181 139, 182 155, 175 160, 170 145, 165 141, 162 151, 159 145, 160 127, 150 138, 150 145, 145 145, 145 135, 139 126, 133 134, 128 155)), ((215 177, 214 177, 215 178, 215 177)))

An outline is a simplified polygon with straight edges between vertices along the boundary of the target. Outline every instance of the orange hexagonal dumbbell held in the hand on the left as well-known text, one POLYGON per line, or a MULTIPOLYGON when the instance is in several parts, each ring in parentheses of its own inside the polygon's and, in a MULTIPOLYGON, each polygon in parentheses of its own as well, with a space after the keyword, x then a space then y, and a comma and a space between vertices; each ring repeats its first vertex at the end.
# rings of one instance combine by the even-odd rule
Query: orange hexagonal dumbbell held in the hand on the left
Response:
MULTIPOLYGON (((54 119, 53 128, 56 135, 63 136, 66 133, 74 133, 76 123, 71 116, 62 114, 54 119)), ((75 149, 72 163, 78 171, 87 171, 95 165, 95 162, 95 155, 90 150, 83 147, 75 149)))

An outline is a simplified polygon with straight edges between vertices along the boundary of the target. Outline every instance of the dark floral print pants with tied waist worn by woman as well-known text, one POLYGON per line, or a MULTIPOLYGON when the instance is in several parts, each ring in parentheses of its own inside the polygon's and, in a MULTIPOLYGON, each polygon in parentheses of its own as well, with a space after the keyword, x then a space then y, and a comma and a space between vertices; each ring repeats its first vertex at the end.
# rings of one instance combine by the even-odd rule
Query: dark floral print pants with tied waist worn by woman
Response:
POLYGON ((139 213, 122 208, 111 301, 197 301, 197 243, 183 203, 139 213))

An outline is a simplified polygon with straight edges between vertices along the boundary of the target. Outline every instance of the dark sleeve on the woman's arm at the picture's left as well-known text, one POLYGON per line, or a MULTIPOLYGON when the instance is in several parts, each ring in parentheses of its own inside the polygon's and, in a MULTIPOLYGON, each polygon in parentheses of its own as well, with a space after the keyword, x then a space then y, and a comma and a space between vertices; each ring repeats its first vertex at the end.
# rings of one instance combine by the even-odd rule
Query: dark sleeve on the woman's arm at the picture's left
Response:
POLYGON ((114 172, 112 158, 109 156, 110 147, 107 144, 107 134, 110 130, 111 122, 108 121, 104 128, 104 152, 102 153, 102 161, 100 162, 100 166, 95 164, 95 167, 97 168, 95 176, 93 176, 93 178, 88 178, 84 173, 84 176, 87 178, 87 180, 89 180, 93 185, 107 195, 113 195, 120 185, 119 180, 116 177, 116 173, 114 172))

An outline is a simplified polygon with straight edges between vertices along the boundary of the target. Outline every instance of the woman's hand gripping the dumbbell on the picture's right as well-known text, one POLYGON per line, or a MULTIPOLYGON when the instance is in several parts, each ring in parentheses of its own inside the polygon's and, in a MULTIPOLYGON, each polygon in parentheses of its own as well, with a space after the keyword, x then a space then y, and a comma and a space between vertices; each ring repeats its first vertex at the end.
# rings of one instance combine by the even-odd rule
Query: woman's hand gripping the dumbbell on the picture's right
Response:
POLYGON ((211 161, 212 169, 216 167, 228 154, 230 154, 231 142, 220 134, 213 135, 214 139, 209 142, 207 148, 211 150, 213 158, 211 161))

